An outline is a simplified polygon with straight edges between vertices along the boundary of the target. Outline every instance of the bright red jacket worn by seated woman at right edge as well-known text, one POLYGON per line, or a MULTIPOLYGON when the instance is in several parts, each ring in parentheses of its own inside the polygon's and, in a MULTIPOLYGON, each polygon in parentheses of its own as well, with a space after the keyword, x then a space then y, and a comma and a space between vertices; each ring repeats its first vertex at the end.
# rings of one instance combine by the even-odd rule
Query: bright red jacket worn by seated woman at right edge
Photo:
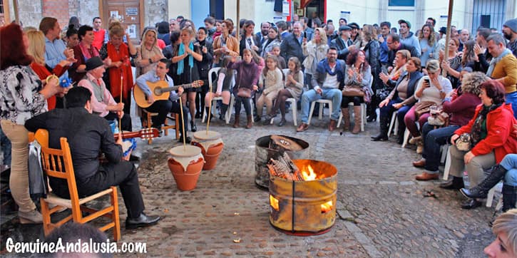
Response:
MULTIPOLYGON (((456 130, 454 134, 471 133, 474 120, 476 120, 482 108, 483 104, 478 105, 474 118, 469 121, 469 124, 456 130)), ((496 162, 499 163, 506 154, 517 153, 517 135, 513 133, 513 124, 515 123, 517 121, 513 118, 513 110, 510 104, 503 104, 492 110, 486 115, 486 129, 488 130, 486 138, 472 148, 472 154, 476 156, 485 155, 493 150, 496 155, 496 162)))

